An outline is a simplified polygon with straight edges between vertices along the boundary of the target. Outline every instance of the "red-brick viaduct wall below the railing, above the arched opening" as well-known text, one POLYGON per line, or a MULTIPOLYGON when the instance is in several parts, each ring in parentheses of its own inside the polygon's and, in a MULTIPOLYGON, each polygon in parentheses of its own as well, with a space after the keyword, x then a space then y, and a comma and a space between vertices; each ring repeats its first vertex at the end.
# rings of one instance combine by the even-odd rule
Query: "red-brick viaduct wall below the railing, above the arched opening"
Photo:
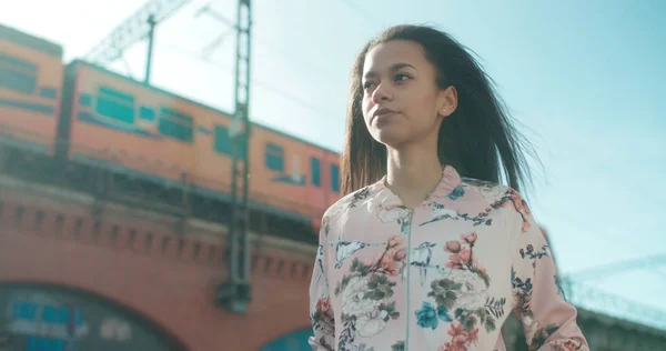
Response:
POLYGON ((281 239, 262 238, 252 258, 252 302, 236 315, 215 305, 215 288, 226 275, 218 229, 191 227, 176 235, 162 220, 137 221, 114 209, 98 218, 90 205, 47 200, 3 189, 0 268, 10 269, 0 269, 0 282, 93 292, 160 321, 192 351, 258 350, 307 327, 314 248, 294 251, 281 239))

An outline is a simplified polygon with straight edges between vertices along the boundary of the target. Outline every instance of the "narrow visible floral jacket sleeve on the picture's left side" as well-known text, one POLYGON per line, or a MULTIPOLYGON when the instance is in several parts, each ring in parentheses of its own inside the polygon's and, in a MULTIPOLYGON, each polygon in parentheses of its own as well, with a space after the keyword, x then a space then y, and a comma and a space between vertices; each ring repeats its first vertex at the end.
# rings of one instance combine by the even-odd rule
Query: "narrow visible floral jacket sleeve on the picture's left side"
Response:
POLYGON ((324 221, 322 221, 319 247, 310 282, 310 321, 314 335, 310 337, 307 341, 314 351, 333 351, 335 341, 335 314, 333 313, 329 298, 329 279, 326 275, 326 252, 329 251, 329 244, 325 227, 324 221))

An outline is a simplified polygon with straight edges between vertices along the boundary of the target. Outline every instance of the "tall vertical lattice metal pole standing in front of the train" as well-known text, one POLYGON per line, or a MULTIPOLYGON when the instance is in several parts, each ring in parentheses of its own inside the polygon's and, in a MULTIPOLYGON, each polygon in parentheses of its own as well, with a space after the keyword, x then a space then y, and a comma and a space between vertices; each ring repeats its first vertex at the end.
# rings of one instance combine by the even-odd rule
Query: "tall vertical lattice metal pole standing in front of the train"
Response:
MULTIPOLYGON (((242 313, 251 300, 250 238, 248 235, 250 124, 251 0, 239 0, 236 11, 235 113, 229 134, 232 140, 231 218, 229 222, 229 275, 218 288, 218 302, 242 313), (239 193, 240 192, 240 193, 239 193)), ((205 11, 211 12, 210 9, 205 11)))

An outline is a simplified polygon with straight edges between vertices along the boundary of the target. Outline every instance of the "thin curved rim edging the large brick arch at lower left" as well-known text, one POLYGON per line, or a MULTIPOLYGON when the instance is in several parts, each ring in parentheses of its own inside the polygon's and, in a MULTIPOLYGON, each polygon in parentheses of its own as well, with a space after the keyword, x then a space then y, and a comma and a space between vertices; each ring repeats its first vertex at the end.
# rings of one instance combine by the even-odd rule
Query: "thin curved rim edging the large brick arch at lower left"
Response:
POLYGON ((109 310, 117 314, 114 315, 115 318, 122 318, 123 320, 130 321, 134 325, 140 327, 143 331, 147 331, 149 334, 158 337, 159 340, 169 345, 170 350, 186 350, 184 343, 159 321, 151 319, 145 313, 138 311, 133 307, 127 305, 121 301, 115 301, 115 299, 100 294, 97 291, 90 291, 88 289, 71 284, 40 282, 34 280, 2 280, 0 281, 0 292, 2 290, 31 291, 43 293, 44 295, 53 293, 64 294, 69 295, 71 299, 77 299, 78 302, 81 300, 88 300, 87 302, 92 302, 95 304, 95 308, 109 310))

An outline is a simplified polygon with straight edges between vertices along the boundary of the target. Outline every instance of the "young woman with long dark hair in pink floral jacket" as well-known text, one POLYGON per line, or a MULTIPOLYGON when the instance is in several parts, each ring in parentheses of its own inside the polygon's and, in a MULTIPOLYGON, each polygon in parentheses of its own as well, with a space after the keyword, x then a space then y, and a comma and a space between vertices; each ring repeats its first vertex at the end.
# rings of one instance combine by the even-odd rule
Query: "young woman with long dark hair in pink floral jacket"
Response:
POLYGON ((322 219, 310 344, 505 350, 513 311, 529 350, 588 350, 517 192, 521 140, 447 34, 400 26, 367 43, 352 72, 345 195, 322 219))

